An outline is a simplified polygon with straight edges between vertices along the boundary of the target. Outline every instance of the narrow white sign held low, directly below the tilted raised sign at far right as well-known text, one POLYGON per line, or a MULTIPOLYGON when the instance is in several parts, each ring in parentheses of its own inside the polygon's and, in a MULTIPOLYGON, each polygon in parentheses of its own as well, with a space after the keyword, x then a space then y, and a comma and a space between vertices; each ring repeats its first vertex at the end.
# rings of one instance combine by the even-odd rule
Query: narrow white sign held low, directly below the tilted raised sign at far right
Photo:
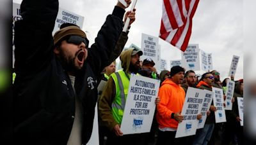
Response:
POLYGON ((225 110, 232 110, 232 97, 234 95, 234 90, 235 90, 235 82, 228 79, 227 90, 225 92, 225 95, 226 95, 225 110))

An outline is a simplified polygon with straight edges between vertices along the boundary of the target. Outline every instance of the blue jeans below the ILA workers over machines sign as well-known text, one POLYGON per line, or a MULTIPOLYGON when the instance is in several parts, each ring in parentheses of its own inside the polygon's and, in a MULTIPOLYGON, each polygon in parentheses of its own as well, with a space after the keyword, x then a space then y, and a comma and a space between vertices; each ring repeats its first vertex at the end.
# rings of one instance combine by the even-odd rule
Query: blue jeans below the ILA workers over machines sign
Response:
POLYGON ((196 130, 195 139, 193 145, 207 145, 211 139, 212 131, 214 128, 214 123, 205 124, 204 128, 196 130))

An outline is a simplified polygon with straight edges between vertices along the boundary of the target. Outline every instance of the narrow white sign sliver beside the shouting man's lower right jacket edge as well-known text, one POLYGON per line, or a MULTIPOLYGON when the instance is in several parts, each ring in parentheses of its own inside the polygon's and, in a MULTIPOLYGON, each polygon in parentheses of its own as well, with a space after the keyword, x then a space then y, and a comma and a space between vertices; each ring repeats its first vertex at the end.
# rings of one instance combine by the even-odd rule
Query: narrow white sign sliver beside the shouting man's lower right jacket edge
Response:
POLYGON ((98 124, 98 104, 95 106, 95 113, 93 119, 92 135, 87 145, 99 145, 99 124, 98 124))

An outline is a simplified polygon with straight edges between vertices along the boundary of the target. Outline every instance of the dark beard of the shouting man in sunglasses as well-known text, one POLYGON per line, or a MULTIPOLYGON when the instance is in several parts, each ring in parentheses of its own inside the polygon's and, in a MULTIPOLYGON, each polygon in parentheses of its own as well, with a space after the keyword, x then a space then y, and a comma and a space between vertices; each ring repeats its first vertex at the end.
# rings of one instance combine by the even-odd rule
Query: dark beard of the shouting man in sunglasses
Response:
POLYGON ((75 66, 75 59, 76 57, 74 57, 73 59, 71 57, 67 57, 60 48, 60 62, 63 68, 65 69, 65 71, 76 74, 76 72, 79 69, 77 69, 75 66))

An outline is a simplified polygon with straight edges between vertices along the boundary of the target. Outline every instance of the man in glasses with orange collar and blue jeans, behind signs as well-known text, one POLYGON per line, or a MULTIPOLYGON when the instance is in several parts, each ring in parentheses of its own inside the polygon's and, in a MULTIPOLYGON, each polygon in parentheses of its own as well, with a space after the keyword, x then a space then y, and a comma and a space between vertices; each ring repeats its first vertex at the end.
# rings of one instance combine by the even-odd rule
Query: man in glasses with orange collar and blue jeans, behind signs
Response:
MULTIPOLYGON (((214 83, 214 76, 210 72, 206 72, 202 75, 202 78, 200 79, 196 87, 212 91, 213 83, 214 83)), ((196 135, 193 141, 193 145, 198 145, 198 144, 206 145, 207 142, 210 141, 212 131, 214 129, 214 123, 215 123, 214 111, 216 111, 216 107, 213 106, 213 103, 211 104, 210 111, 211 111, 210 114, 209 112, 207 113, 208 116, 206 118, 204 128, 196 130, 196 135)))

